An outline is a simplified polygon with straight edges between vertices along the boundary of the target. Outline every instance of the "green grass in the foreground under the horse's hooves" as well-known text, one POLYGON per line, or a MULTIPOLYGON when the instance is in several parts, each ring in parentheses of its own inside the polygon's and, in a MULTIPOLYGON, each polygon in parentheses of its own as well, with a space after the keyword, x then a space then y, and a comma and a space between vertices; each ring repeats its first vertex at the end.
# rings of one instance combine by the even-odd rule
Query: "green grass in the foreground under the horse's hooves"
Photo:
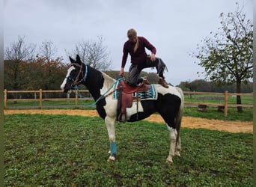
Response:
POLYGON ((4 116, 5 186, 252 186, 252 134, 181 129, 183 150, 166 165, 168 131, 117 123, 118 157, 100 117, 4 116))

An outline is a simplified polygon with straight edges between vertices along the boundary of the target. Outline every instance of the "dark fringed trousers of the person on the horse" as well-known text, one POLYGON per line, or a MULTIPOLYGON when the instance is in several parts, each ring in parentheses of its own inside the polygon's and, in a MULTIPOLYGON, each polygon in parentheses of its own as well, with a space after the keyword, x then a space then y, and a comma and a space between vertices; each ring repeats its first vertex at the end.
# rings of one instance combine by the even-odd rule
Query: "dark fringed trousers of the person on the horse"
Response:
POLYGON ((156 58, 156 61, 151 61, 150 58, 147 58, 147 60, 144 62, 144 64, 135 65, 132 64, 129 67, 129 77, 128 82, 131 86, 136 86, 140 82, 142 82, 142 78, 139 78, 141 70, 147 67, 156 67, 158 76, 164 78, 163 72, 166 68, 165 63, 162 61, 161 58, 156 58))

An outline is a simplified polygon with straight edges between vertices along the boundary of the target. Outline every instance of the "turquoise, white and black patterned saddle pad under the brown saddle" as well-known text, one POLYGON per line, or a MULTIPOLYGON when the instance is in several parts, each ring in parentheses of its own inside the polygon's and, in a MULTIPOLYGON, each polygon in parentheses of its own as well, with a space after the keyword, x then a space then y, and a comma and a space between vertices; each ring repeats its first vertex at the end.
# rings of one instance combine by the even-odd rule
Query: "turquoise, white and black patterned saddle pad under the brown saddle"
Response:
MULTIPOLYGON (((114 91, 113 93, 113 97, 115 99, 118 99, 118 95, 119 95, 119 91, 114 91)), ((153 99, 156 100, 157 99, 157 92, 156 92, 156 88, 155 85, 150 85, 150 89, 148 89, 147 91, 144 92, 134 92, 132 93, 133 97, 137 97, 141 99, 141 100, 147 100, 147 99, 153 99)))

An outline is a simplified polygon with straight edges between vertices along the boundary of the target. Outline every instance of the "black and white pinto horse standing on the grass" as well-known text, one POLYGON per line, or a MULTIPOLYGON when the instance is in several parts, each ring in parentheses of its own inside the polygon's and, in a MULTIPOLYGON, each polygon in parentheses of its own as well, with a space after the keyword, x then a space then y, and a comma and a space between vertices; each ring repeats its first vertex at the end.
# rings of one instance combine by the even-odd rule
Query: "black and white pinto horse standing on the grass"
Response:
MULTIPOLYGON (((91 96, 96 101, 96 109, 100 117, 105 120, 109 135, 110 150, 108 162, 115 161, 117 156, 117 145, 115 141, 115 121, 118 116, 118 99, 113 96, 118 84, 116 79, 108 76, 94 67, 84 64, 79 55, 76 60, 70 57, 70 67, 67 76, 61 84, 64 93, 70 93, 78 89, 77 86, 86 86, 91 96)), ((162 85, 153 85, 156 89, 156 99, 140 99, 132 102, 132 106, 127 108, 127 121, 133 122, 143 120, 151 114, 158 112, 169 132, 170 150, 166 163, 173 163, 173 157, 180 157, 180 126, 183 116, 184 96, 180 88, 169 85, 164 88, 162 85)))

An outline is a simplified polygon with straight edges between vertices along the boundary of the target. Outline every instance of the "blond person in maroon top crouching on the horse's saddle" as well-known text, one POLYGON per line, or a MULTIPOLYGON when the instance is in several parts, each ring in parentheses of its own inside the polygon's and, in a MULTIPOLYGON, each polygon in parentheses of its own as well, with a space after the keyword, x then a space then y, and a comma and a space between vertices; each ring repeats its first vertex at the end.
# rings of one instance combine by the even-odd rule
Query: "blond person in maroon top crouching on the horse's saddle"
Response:
POLYGON ((166 68, 165 63, 161 58, 156 58, 156 48, 144 37, 138 37, 137 32, 131 28, 127 31, 127 40, 124 43, 122 65, 120 70, 120 76, 124 76, 124 67, 127 63, 128 53, 131 56, 131 66, 129 67, 128 82, 131 86, 137 86, 143 81, 143 78, 139 78, 141 70, 147 67, 156 67, 157 74, 159 76, 159 84, 165 88, 168 88, 165 82, 163 72, 166 68), (145 48, 151 51, 151 55, 147 55, 145 48))

